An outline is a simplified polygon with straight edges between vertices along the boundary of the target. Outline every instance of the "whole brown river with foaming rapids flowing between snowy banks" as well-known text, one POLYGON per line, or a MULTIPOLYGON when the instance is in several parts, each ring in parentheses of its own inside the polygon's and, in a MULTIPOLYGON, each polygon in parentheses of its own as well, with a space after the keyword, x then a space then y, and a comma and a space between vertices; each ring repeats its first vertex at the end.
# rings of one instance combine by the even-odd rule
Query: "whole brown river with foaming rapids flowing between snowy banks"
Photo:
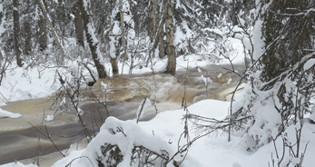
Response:
MULTIPOLYGON (((229 68, 229 65, 225 67, 229 68)), ((236 65, 236 70, 244 72, 244 65, 236 65)), ((110 116, 121 120, 135 119, 135 113, 144 97, 157 101, 158 113, 180 109, 182 107, 182 97, 184 93, 184 83, 186 81, 186 102, 192 104, 200 100, 210 99, 229 100, 226 98, 226 90, 233 87, 240 79, 236 74, 225 74, 221 66, 202 68, 205 77, 209 77, 212 82, 208 83, 208 95, 205 91, 204 83, 200 80, 197 69, 186 72, 177 72, 174 76, 169 74, 143 74, 143 75, 123 75, 103 81, 107 83, 106 107, 110 116), (217 78, 218 74, 223 74, 217 78), (232 83, 226 85, 228 79, 232 77, 232 83), (153 82, 154 81, 154 82, 153 82)), ((84 110, 83 120, 91 134, 98 132, 98 127, 102 125, 107 112, 103 104, 91 101, 91 91, 98 97, 104 99, 104 91, 101 90, 100 83, 95 83, 93 89, 83 91, 85 102, 80 106, 84 110)), ((52 136, 54 144, 60 150, 69 148, 71 143, 79 142, 86 138, 74 113, 59 113, 51 110, 53 101, 48 97, 8 103, 1 108, 12 113, 21 113, 23 116, 18 119, 0 119, 0 165, 7 162, 31 159, 35 156, 43 156, 51 152, 57 152, 52 142, 37 129, 52 136), (43 121, 45 114, 54 114, 54 120, 43 121), (43 123, 42 123, 43 122, 43 123), (40 140, 39 140, 40 139, 40 140), (38 147, 40 145, 40 147, 38 147)), ((141 121, 151 120, 156 114, 154 106, 149 107, 141 121)), ((60 156, 61 158, 61 156, 60 156)), ((30 161, 29 161, 30 162, 30 161)), ((49 165, 47 165, 49 166, 49 165)))

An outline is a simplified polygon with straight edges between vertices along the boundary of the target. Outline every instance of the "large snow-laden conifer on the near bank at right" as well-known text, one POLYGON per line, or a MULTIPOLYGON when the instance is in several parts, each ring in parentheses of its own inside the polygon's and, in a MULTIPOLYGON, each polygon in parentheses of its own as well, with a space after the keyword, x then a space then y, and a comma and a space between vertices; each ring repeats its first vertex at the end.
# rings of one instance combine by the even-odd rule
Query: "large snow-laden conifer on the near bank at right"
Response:
MULTIPOLYGON (((292 2, 288 5, 293 7, 292 2)), ((314 47, 307 33, 313 31, 307 20, 313 14, 282 10, 278 3, 281 1, 256 1, 252 59, 261 64, 255 62, 257 69, 252 66, 246 74, 247 89, 243 98, 233 103, 231 113, 231 120, 249 118, 244 138, 250 149, 271 142, 290 124, 302 123, 303 115, 310 112, 314 53, 303 51, 314 47), (294 24, 295 19, 301 19, 302 24, 294 24)), ((311 7, 313 4, 304 2, 297 10, 311 7)))

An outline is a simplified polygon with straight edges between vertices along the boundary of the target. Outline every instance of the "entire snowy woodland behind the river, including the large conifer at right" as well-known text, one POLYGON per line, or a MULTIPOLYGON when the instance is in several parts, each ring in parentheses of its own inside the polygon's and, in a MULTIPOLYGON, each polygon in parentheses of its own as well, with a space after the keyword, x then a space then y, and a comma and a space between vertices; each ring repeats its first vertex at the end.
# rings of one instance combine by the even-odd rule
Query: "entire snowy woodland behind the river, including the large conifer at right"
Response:
POLYGON ((314 14, 313 0, 0 0, 0 85, 10 65, 76 62, 96 82, 123 68, 132 74, 149 66, 154 73, 153 60, 167 60, 163 72, 175 74, 181 55, 231 61, 229 40, 236 38, 247 70, 235 90, 247 83, 245 93, 232 97, 223 122, 197 129, 246 131, 250 151, 279 137, 291 161, 277 154, 278 166, 301 166, 304 115, 315 122, 314 14), (283 133, 292 125, 295 149, 283 133))

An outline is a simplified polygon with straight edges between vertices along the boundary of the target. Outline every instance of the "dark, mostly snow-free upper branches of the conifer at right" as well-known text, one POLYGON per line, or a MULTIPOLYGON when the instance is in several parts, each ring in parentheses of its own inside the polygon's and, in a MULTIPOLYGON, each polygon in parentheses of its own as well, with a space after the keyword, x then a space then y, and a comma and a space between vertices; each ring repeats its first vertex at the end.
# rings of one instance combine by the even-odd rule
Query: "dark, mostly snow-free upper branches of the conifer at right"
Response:
POLYGON ((270 81, 290 69, 311 49, 314 35, 315 3, 311 0, 261 0, 268 10, 260 15, 265 54, 261 64, 263 81, 270 81))

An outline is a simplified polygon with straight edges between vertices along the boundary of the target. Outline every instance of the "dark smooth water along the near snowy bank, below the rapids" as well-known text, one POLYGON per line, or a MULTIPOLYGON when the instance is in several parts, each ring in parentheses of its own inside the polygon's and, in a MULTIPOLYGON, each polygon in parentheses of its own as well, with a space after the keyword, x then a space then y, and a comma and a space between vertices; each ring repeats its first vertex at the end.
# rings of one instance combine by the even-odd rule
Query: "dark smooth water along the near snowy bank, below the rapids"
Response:
MULTIPOLYGON (((131 120, 135 118, 135 113, 141 100, 142 98, 135 99, 133 102, 109 102, 106 103, 106 106, 111 116, 121 120, 131 120)), ((100 126, 108 117, 103 104, 89 103, 83 105, 81 108, 85 112, 82 118, 87 126, 88 132, 91 135, 98 133, 100 126)), ((143 115, 142 121, 150 120, 154 116, 155 112, 147 111, 143 115)), ((41 128, 41 132, 47 135, 44 126, 37 126, 36 128, 41 128)), ((86 138, 82 129, 81 123, 47 127, 51 139, 59 150, 67 149, 71 143, 86 138)), ((29 159, 50 152, 57 152, 57 149, 48 138, 39 133, 35 128, 0 133, 0 164, 15 162, 15 160, 29 159), (38 142, 38 137, 41 138, 40 142, 38 142), (40 143, 41 146, 40 153, 37 151, 38 143, 40 143)))

